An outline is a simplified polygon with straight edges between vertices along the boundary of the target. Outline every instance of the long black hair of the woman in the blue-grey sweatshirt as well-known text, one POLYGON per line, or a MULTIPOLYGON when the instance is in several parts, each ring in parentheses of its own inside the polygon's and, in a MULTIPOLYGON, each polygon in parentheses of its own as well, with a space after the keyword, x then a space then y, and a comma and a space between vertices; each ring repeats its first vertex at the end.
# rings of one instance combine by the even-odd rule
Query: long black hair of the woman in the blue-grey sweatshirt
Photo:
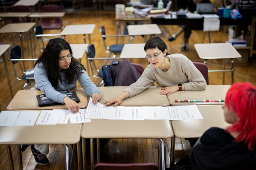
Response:
MULTIPOLYGON (((53 38, 49 40, 43 53, 35 62, 35 65, 42 62, 46 69, 49 82, 51 82, 52 87, 55 88, 55 90, 58 89, 58 80, 62 83, 58 63, 59 54, 63 50, 69 50, 70 54, 73 53, 67 41, 61 38, 53 38)), ((83 70, 85 70, 84 66, 72 57, 69 68, 64 70, 66 71, 67 83, 72 83, 76 77, 79 77, 82 74, 83 70)))

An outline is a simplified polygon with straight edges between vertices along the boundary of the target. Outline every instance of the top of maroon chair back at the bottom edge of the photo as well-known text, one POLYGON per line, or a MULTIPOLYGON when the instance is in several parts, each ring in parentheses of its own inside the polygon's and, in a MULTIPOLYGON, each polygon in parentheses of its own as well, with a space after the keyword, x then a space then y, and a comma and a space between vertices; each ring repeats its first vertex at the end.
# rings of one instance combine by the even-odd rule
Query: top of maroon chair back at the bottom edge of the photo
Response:
POLYGON ((143 163, 143 164, 98 163, 94 166, 94 170, 158 170, 158 167, 154 163, 143 163))

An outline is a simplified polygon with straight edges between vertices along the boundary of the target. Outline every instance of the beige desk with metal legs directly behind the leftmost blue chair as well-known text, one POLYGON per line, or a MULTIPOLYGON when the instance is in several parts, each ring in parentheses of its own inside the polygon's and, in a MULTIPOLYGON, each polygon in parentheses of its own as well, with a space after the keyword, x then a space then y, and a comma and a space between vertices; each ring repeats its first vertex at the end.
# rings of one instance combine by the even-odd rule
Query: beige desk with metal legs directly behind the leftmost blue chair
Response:
MULTIPOLYGON (((23 51, 23 40, 22 40, 22 33, 26 32, 28 41, 27 41, 27 46, 29 46, 29 40, 30 40, 30 52, 31 56, 33 56, 32 52, 32 42, 31 42, 31 37, 29 34, 29 30, 35 26, 35 23, 12 23, 12 24, 7 24, 3 26, 0 29, 0 34, 2 33, 19 33, 20 34, 20 48, 21 48, 21 57, 24 58, 24 51, 23 51)), ((14 43, 14 42, 12 42, 14 43)), ((23 62, 23 68, 25 69, 25 63, 23 62)))

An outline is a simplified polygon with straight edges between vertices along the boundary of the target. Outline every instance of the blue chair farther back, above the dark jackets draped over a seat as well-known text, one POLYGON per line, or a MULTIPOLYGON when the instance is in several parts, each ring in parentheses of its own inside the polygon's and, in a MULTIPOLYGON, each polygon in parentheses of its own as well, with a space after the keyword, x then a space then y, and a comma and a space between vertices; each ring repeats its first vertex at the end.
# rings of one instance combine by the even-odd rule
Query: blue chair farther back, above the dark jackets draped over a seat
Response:
MULTIPOLYGON (((106 31, 105 31, 105 26, 102 26, 99 29, 101 35, 102 35, 102 40, 103 40, 103 44, 106 50, 106 53, 108 53, 108 58, 111 57, 112 53, 113 53, 113 57, 116 57, 116 53, 121 53, 122 48, 124 47, 124 44, 115 44, 115 45, 110 45, 109 47, 107 47, 106 45, 106 37, 127 37, 129 35, 125 35, 125 34, 119 34, 119 35, 106 35, 106 31)), ((105 61, 105 63, 103 65, 106 64, 107 61, 105 61)), ((109 62, 109 64, 111 64, 112 60, 109 62)))

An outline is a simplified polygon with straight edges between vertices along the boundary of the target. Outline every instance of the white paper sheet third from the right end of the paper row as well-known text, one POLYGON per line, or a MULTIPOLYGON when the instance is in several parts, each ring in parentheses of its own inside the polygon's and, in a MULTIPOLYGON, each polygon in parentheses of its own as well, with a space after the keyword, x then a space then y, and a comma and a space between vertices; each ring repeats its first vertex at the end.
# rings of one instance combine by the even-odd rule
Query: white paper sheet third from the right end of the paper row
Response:
POLYGON ((166 120, 167 114, 162 111, 161 106, 157 107, 148 107, 148 106, 143 106, 143 112, 145 113, 144 119, 147 120, 166 120))

